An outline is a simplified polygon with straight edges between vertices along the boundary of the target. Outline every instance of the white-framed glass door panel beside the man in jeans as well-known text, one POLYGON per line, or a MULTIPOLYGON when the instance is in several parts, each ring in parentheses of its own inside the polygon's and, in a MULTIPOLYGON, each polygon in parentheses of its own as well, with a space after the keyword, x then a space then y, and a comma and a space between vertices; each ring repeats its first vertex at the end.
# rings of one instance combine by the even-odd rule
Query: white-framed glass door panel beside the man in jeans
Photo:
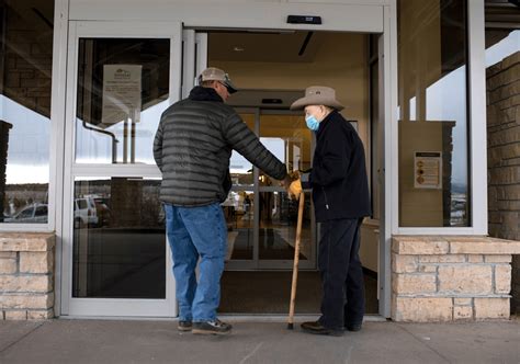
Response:
POLYGON ((70 23, 61 315, 176 315, 152 143, 181 54, 179 23, 70 23))

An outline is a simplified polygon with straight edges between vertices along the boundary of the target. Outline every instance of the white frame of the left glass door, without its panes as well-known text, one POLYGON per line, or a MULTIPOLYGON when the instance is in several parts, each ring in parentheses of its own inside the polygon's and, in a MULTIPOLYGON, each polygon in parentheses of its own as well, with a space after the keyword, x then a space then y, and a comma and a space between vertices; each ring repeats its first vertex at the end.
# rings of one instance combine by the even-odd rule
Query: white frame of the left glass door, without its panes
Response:
MULTIPOLYGON (((144 316, 172 317, 177 315, 174 280, 171 275, 171 253, 165 235, 166 297, 163 299, 74 298, 74 185, 77 177, 137 177, 160 179, 157 166, 143 164, 76 164, 76 103, 78 84, 78 43, 80 38, 168 38, 170 39, 169 103, 180 98, 181 84, 181 24, 179 22, 92 22, 70 21, 68 29, 67 84, 65 112, 64 190, 59 215, 61 235, 61 305, 60 315, 71 316, 144 316)), ((58 216, 59 216, 58 215, 58 216)))

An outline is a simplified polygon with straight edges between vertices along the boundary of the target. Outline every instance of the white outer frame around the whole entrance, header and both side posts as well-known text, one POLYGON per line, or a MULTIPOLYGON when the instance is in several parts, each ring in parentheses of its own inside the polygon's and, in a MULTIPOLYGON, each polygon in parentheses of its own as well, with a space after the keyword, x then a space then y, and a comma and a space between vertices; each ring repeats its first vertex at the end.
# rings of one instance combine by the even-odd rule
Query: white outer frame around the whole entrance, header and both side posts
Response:
MULTIPOLYGON (((121 11, 118 1, 115 0, 92 0, 89 3, 80 0, 56 0, 55 11, 55 50, 53 61, 53 111, 52 120, 54 122, 54 133, 52 138, 60 152, 57 153, 56 163, 56 232, 57 232, 57 249, 56 249, 56 297, 55 303, 56 312, 59 315, 70 315, 68 304, 68 293, 70 287, 70 278, 67 278, 67 252, 64 247, 67 246, 67 224, 64 214, 65 201, 67 197, 67 183, 70 184, 70 173, 65 173, 65 167, 70 160, 66 160, 67 150, 70 146, 65 146, 65 120, 67 118, 66 107, 69 107, 70 95, 67 95, 69 90, 67 86, 67 76, 70 67, 70 59, 67 57, 70 54, 69 43, 67 38, 72 38, 69 34, 69 22, 74 21, 90 21, 97 24, 105 22, 128 22, 132 23, 134 30, 143 29, 139 24, 146 23, 151 26, 154 24, 177 24, 183 22, 185 29, 257 29, 257 30, 308 30, 308 31, 341 31, 341 32, 362 32, 382 34, 382 47, 384 49, 381 61, 381 67, 384 70, 384 76, 380 72, 384 83, 380 84, 380 90, 384 98, 380 99, 380 105, 384 110, 382 114, 381 133, 383 137, 383 145, 381 150, 386 156, 384 158, 382 170, 382 185, 380 191, 381 196, 381 235, 380 235, 380 269, 378 273, 383 274, 383 280, 380 280, 380 314, 389 317, 391 308, 391 240, 392 240, 392 217, 393 203, 397 203, 397 196, 391 193, 391 182, 395 178, 397 170, 397 121, 393 113, 397 110, 397 25, 396 25, 396 0, 381 0, 373 1, 369 4, 360 4, 358 0, 344 1, 344 3, 241 3, 241 4, 186 4, 177 1, 165 2, 159 0, 150 0, 150 2, 132 3, 125 11, 121 11), (157 4, 157 5, 156 5, 157 4), (210 7, 210 8, 208 8, 210 7), (226 11, 222 11, 223 7, 226 11), (214 14, 221 14, 214 16, 214 14), (250 16, 251 13, 257 14, 250 16), (289 14, 318 14, 324 20, 323 25, 312 24, 287 24, 286 16, 289 14), (248 16, 249 14, 249 16, 248 16), (136 19, 139 22, 136 22, 136 19), (64 104, 67 99, 67 104, 64 104), (385 172, 386 171, 386 172, 385 172), (63 193, 63 191, 65 191, 63 193), (63 221, 63 223, 61 223, 63 221)), ((148 26, 145 26, 148 27, 148 26)), ((143 30, 146 33, 146 29, 143 30)), ((162 27, 159 33, 165 32, 162 27)), ((138 35, 143 37, 143 33, 138 35)), ((381 47, 380 47, 381 49, 381 47)), ((180 58, 181 53, 177 56, 180 58)), ((173 55, 172 55, 173 56, 173 55)), ((181 59, 179 59, 179 65, 181 59)), ((72 64, 74 67, 76 65, 72 64)), ((179 68, 180 69, 180 68, 179 68)), ((180 79, 180 76, 179 76, 180 79)), ((70 81, 70 80, 69 80, 70 81)), ((180 81, 178 93, 181 94, 180 81)), ((170 95, 176 92, 170 89, 170 95)), ((75 91, 76 93, 76 91, 75 91)), ((178 100, 178 99, 177 99, 178 100)), ((172 100, 172 101, 177 101, 172 100)), ((74 102, 76 102, 74 100, 74 102)), ((68 110, 68 109, 67 109, 68 110)), ((155 173, 152 173, 155 174, 155 173)), ((69 186, 70 189, 70 186, 69 186)), ((53 191, 50 191, 50 194, 53 191)), ((171 274, 169 274, 171 275, 171 274)), ((117 310, 114 316, 121 316, 117 310)), ((174 316, 174 314, 172 314, 174 316)))

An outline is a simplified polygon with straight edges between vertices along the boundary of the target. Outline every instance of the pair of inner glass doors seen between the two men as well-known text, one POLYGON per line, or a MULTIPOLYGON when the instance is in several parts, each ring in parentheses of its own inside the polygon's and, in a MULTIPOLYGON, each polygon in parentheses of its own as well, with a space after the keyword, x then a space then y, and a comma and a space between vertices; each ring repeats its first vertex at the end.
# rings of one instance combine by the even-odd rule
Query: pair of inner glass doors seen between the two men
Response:
MULTIPOLYGON (((238 110, 262 144, 291 171, 310 168, 313 135, 301 113, 260 109, 238 110)), ((276 180, 236 151, 231 155, 231 192, 223 204, 228 229, 227 270, 292 269, 297 201, 276 180)), ((299 266, 316 266, 315 223, 306 193, 299 266)))

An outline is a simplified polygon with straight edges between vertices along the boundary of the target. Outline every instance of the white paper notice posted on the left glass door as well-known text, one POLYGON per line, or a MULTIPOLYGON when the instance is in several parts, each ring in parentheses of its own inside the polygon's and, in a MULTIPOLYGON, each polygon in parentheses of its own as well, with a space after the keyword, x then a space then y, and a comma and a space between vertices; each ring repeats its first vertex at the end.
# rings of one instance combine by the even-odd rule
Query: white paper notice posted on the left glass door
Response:
POLYGON ((103 124, 115 124, 140 113, 142 69, 140 65, 103 66, 103 124))

